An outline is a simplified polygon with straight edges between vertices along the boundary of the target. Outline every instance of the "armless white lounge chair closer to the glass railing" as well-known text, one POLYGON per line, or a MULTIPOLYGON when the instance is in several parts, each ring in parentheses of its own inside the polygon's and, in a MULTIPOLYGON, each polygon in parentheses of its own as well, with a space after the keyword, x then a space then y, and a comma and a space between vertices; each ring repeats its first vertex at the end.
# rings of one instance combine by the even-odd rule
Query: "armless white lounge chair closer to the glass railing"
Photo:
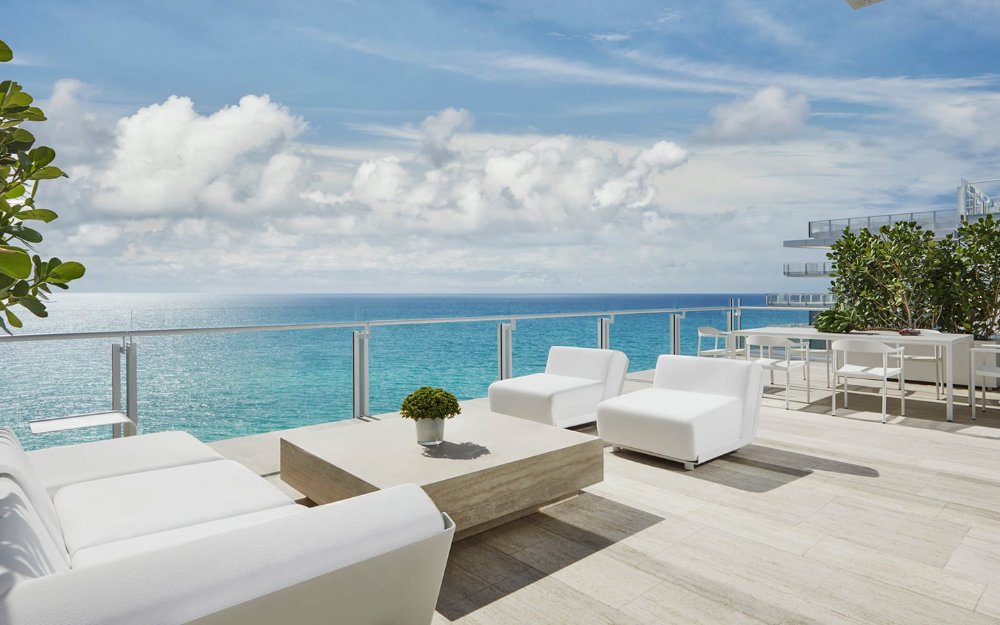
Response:
POLYGON ((552 347, 545 373, 490 384, 490 410, 557 427, 592 423, 597 404, 622 392, 627 371, 619 351, 552 347))

